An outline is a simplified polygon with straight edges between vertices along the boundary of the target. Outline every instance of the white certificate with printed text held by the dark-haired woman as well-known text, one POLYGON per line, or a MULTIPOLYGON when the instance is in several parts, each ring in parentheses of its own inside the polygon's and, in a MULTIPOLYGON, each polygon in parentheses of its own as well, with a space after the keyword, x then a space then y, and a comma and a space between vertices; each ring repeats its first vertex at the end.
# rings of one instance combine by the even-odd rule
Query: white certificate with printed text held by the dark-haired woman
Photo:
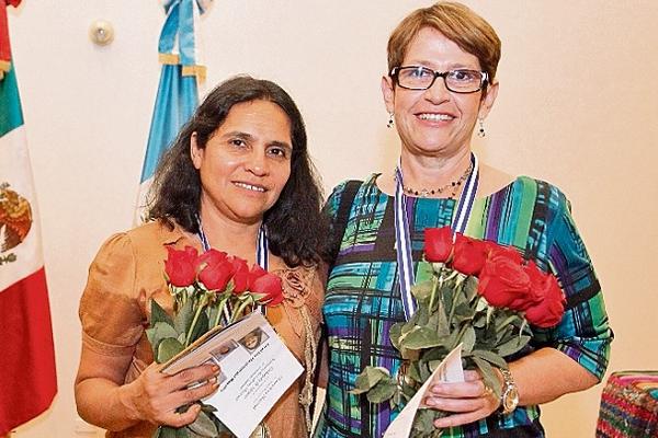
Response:
POLYGON ((172 358, 162 372, 174 374, 206 362, 219 366, 217 392, 204 400, 238 438, 248 438, 304 371, 260 312, 213 330, 172 358))

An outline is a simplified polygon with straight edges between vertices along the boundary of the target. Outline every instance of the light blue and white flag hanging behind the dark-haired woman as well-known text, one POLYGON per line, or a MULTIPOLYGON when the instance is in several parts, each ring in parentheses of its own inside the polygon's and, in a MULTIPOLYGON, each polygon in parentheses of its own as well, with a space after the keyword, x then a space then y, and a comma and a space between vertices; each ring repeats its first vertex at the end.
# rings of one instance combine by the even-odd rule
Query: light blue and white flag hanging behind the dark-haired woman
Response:
POLYGON ((203 82, 205 79, 205 67, 200 64, 197 48, 198 19, 211 1, 166 0, 162 2, 167 13, 158 44, 162 72, 141 168, 135 224, 141 223, 145 219, 147 194, 160 157, 171 146, 180 128, 190 119, 198 105, 197 82, 203 82))

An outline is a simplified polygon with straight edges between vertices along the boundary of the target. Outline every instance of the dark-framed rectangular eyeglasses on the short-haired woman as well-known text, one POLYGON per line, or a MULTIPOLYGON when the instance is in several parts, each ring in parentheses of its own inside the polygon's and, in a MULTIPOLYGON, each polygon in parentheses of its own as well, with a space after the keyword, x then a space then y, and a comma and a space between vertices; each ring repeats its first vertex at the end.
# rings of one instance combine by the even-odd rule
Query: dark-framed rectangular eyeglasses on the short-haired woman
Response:
POLYGON ((481 90, 488 80, 486 71, 458 69, 441 72, 422 66, 395 67, 389 76, 407 90, 427 90, 436 78, 443 78, 446 89, 464 94, 481 90))

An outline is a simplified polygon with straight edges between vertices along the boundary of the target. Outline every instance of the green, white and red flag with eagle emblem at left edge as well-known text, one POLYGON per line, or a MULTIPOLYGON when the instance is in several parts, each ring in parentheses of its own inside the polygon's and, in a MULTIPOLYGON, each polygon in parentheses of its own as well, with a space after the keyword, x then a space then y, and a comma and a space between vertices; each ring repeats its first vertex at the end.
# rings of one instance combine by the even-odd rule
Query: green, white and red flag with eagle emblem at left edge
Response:
POLYGON ((47 410, 57 392, 38 211, 7 4, 0 0, 0 437, 47 410))

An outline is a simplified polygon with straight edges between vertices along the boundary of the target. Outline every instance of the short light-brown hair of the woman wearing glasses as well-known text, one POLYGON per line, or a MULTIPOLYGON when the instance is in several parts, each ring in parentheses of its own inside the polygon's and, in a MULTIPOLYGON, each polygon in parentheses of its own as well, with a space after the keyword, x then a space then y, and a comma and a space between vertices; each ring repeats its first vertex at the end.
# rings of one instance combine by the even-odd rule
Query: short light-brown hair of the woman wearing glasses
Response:
POLYGON ((489 82, 500 60, 500 38, 485 19, 462 3, 441 1, 407 15, 388 38, 388 71, 401 66, 411 41, 423 27, 432 27, 462 50, 477 57, 489 82))

